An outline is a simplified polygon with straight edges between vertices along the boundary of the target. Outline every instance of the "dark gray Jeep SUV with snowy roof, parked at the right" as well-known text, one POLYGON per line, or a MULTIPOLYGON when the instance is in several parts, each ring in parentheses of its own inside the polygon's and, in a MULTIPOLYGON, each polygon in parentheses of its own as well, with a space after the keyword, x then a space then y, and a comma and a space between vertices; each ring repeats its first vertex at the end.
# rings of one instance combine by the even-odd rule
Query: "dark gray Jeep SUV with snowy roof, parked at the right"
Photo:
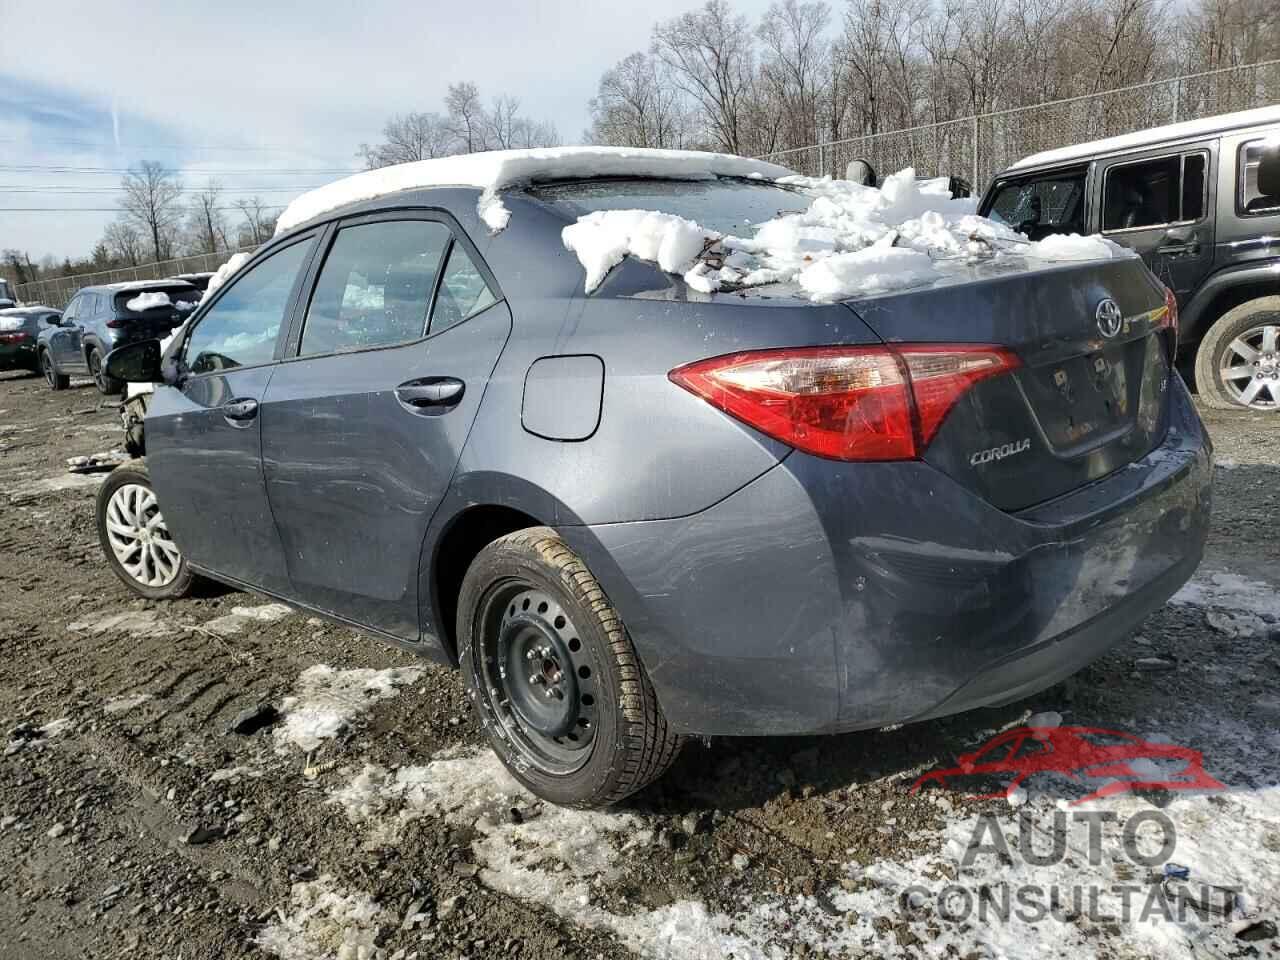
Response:
POLYGON ((1178 297, 1201 397, 1280 410, 1280 106, 1036 154, 979 212, 1135 250, 1178 297))

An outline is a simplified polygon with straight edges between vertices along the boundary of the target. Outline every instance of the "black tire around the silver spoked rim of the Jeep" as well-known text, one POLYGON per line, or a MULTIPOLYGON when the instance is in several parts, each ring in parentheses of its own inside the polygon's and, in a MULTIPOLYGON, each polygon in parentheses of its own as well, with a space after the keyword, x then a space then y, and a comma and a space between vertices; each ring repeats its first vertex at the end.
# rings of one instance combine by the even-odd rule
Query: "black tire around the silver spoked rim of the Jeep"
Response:
POLYGON ((1249 366, 1253 361, 1245 361, 1234 348, 1238 340, 1248 339, 1251 332, 1267 326, 1280 328, 1280 297, 1258 297, 1228 310, 1204 334, 1196 351, 1196 387, 1211 407, 1280 411, 1280 351, 1272 349, 1260 357, 1254 367, 1249 366), (1262 375, 1253 402, 1242 402, 1251 381, 1226 376, 1224 364, 1242 371, 1248 367, 1254 378, 1262 375))

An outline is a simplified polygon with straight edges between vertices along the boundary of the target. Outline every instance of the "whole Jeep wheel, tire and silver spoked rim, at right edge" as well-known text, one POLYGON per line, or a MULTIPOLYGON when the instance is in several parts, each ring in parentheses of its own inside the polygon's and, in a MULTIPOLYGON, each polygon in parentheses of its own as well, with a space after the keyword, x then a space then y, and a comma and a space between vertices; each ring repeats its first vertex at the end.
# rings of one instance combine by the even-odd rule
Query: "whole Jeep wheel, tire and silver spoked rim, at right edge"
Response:
POLYGON ((1280 410, 1280 297, 1219 317, 1196 352, 1196 384, 1213 407, 1280 410))

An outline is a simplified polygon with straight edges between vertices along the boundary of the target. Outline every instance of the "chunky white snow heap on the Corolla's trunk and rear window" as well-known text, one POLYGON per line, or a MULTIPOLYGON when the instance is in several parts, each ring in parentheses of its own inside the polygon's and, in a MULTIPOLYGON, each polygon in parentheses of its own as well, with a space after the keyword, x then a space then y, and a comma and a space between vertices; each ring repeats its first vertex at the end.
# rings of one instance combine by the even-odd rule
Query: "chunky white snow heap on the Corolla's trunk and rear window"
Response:
POLYGON ((1101 237, 1055 236, 1030 242, 1005 224, 977 216, 973 200, 955 200, 946 180, 916 180, 906 169, 879 188, 851 180, 783 177, 812 197, 808 210, 732 237, 671 214, 600 210, 562 232, 566 248, 594 291, 623 256, 681 274, 695 291, 795 284, 815 301, 883 293, 938 278, 942 261, 1018 256, 1039 261, 1133 256, 1101 237))

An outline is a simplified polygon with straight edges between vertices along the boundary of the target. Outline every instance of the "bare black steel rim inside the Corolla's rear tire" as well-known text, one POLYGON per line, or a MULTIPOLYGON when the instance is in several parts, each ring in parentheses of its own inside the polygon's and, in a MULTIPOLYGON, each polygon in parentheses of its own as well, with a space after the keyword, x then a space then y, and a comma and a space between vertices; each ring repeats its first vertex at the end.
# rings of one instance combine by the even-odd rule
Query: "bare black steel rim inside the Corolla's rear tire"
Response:
POLYGON ((545 773, 581 768, 595 741, 595 677, 564 609, 508 580, 490 591, 481 622, 481 695, 506 735, 545 773))

